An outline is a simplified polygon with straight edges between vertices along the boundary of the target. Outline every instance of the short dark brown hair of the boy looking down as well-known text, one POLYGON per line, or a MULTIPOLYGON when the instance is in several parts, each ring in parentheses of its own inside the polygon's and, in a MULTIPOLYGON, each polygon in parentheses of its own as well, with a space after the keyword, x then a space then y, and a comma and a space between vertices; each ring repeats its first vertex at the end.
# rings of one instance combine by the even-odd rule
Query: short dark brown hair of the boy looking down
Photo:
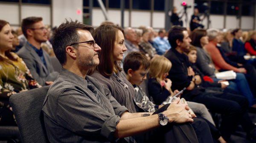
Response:
POLYGON ((143 53, 133 51, 125 56, 123 68, 126 74, 128 73, 129 69, 132 69, 133 71, 139 70, 140 66, 142 66, 145 70, 147 70, 150 66, 149 60, 143 53))

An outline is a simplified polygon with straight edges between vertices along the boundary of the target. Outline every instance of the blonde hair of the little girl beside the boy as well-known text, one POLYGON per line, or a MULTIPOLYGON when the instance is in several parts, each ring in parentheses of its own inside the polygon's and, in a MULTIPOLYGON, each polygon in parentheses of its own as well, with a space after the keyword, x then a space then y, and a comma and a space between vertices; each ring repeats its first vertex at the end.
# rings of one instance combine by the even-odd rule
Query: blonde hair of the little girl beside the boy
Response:
POLYGON ((155 55, 150 61, 149 77, 156 78, 160 83, 162 75, 168 73, 172 68, 172 63, 164 56, 155 55))

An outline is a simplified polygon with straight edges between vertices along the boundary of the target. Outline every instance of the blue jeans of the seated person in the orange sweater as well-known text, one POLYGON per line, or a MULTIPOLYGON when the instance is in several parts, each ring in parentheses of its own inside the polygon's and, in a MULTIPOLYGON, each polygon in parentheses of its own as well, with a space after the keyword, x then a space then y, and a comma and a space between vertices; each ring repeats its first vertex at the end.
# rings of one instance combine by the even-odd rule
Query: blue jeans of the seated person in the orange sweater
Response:
MULTIPOLYGON (((218 81, 219 79, 213 78, 213 81, 218 81)), ((239 94, 243 95, 249 101, 249 106, 255 104, 255 99, 253 93, 250 90, 250 86, 247 82, 243 73, 236 73, 236 79, 229 80, 230 85, 228 88, 231 88, 237 91, 239 94)))

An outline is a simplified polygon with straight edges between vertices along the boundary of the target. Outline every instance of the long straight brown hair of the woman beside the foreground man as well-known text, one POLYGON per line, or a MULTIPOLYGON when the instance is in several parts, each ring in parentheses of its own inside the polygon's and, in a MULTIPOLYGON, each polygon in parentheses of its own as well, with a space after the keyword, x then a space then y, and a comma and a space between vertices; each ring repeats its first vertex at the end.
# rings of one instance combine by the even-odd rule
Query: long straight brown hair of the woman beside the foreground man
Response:
POLYGON ((121 71, 120 63, 114 61, 113 58, 113 49, 119 30, 124 34, 123 29, 116 25, 100 25, 93 33, 95 42, 102 49, 99 52, 99 65, 96 70, 105 77, 111 76, 113 72, 121 71))

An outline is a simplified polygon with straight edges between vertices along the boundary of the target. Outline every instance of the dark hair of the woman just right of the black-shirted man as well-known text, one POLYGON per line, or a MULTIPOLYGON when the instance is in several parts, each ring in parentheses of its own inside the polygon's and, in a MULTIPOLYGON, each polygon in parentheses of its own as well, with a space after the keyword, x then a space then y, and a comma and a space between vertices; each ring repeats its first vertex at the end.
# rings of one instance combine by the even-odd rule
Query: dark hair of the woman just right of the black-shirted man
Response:
POLYGON ((192 40, 191 44, 193 46, 196 46, 196 47, 202 47, 201 46, 201 42, 200 42, 200 39, 203 37, 203 36, 207 36, 207 31, 204 30, 204 29, 195 29, 191 35, 190 35, 190 39, 192 40))

